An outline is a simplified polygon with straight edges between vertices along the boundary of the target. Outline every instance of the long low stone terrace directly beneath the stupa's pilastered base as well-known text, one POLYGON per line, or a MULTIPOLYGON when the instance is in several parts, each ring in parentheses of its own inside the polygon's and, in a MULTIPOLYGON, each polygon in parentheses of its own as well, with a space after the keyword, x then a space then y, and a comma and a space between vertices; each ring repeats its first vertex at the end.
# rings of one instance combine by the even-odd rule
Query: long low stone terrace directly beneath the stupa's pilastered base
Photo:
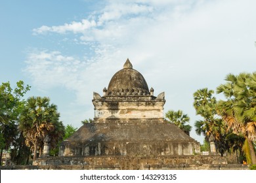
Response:
MULTIPOLYGON (((113 167, 119 169, 154 169, 153 167, 173 167, 182 165, 225 165, 226 159, 220 156, 88 156, 39 158, 36 165, 87 165, 113 167), (150 168, 151 167, 151 168, 150 168)), ((161 168, 161 169, 162 169, 161 168)))

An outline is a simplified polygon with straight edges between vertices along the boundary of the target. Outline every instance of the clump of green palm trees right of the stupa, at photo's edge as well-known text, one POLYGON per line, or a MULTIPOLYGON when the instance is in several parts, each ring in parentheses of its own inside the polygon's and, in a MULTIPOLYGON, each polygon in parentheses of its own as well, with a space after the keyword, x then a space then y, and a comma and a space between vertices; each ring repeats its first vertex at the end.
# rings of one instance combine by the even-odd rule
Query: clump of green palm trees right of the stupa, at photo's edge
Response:
POLYGON ((217 101, 207 88, 194 93, 196 114, 203 118, 195 123, 196 133, 215 142, 222 155, 238 151, 248 164, 256 164, 256 73, 229 74, 225 80, 216 91, 226 100, 217 101))

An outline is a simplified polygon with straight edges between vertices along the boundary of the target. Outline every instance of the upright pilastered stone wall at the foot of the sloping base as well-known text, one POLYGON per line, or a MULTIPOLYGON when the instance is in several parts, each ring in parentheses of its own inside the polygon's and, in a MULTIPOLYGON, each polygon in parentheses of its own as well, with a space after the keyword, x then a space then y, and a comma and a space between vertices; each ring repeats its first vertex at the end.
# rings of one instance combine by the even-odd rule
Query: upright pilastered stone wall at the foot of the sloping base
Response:
POLYGON ((64 156, 192 155, 194 142, 66 142, 64 156))

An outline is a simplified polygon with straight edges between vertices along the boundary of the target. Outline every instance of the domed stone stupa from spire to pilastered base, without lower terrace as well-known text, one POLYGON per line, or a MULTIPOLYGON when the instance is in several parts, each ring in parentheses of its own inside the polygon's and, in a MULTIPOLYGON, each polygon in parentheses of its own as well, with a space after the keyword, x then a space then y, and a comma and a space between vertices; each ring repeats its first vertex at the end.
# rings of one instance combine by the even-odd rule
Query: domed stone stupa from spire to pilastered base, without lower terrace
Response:
POLYGON ((127 59, 103 89, 93 93, 95 118, 63 142, 60 156, 189 156, 200 144, 163 118, 165 93, 154 96, 127 59))

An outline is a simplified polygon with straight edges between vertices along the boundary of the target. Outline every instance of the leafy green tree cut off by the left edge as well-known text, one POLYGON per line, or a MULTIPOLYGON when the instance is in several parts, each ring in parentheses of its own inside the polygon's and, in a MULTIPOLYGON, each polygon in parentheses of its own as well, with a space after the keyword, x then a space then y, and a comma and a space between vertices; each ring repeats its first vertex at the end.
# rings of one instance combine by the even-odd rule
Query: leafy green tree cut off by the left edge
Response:
POLYGON ((3 150, 8 150, 14 146, 18 139, 18 118, 24 106, 24 94, 30 90, 30 86, 25 85, 22 80, 16 82, 16 88, 11 88, 9 82, 0 85, 0 162, 3 150))

